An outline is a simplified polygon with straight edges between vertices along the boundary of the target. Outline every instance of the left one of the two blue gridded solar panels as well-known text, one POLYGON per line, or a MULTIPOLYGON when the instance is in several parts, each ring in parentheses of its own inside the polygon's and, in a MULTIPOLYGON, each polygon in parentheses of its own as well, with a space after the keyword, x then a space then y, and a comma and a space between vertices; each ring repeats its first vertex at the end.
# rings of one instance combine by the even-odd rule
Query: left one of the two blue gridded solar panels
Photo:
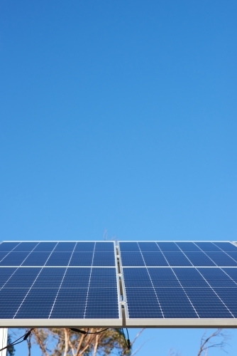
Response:
POLYGON ((113 242, 0 244, 1 319, 116 319, 113 242))

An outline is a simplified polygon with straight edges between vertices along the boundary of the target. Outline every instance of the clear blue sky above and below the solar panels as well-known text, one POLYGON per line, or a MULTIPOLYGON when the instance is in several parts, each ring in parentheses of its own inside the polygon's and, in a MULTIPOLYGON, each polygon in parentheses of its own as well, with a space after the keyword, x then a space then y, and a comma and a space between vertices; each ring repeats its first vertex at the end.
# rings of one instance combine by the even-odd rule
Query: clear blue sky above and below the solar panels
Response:
MULTIPOLYGON (((236 14, 2 0, 1 240, 237 240, 236 14)), ((144 335, 190 356, 202 330, 144 335)))

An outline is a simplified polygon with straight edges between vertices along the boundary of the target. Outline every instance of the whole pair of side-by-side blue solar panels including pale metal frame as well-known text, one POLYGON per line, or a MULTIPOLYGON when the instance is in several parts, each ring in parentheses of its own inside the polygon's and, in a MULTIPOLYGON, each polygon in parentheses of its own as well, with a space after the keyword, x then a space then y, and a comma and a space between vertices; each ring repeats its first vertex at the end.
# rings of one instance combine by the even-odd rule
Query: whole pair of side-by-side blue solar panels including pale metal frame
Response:
POLYGON ((1 327, 236 327, 237 244, 6 241, 1 327))

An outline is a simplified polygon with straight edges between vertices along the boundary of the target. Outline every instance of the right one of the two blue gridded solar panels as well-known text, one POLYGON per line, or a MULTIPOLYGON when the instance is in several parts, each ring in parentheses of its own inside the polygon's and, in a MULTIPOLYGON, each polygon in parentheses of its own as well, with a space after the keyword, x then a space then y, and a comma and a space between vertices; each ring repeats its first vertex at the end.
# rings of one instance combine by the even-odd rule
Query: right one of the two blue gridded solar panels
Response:
POLYGON ((120 242, 127 318, 237 318, 237 247, 120 242))

